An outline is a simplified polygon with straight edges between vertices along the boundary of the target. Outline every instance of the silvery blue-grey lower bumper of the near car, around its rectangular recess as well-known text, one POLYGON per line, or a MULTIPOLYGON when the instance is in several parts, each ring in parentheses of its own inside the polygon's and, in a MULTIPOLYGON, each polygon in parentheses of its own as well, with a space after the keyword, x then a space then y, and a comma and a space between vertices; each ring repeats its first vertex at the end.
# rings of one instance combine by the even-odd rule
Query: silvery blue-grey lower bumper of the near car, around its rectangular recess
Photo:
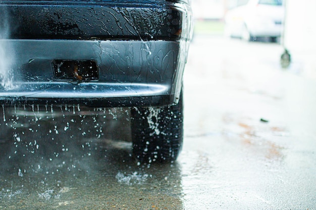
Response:
POLYGON ((181 91, 186 41, 1 42, 16 49, 11 84, 0 87, 2 102, 157 106, 177 102, 181 91), (57 80, 52 65, 57 59, 93 60, 98 79, 57 80))

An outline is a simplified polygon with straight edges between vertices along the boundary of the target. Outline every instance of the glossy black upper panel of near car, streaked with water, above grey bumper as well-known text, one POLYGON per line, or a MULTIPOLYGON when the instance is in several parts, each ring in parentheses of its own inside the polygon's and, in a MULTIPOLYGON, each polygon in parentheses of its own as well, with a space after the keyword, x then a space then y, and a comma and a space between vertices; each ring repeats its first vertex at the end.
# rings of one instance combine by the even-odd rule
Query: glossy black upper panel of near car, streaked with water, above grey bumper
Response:
MULTIPOLYGON (((188 39, 187 11, 166 1, 0 1, 11 39, 188 39)), ((5 19, 2 19, 4 21, 5 19)), ((1 21, 1 20, 0 20, 1 21)))

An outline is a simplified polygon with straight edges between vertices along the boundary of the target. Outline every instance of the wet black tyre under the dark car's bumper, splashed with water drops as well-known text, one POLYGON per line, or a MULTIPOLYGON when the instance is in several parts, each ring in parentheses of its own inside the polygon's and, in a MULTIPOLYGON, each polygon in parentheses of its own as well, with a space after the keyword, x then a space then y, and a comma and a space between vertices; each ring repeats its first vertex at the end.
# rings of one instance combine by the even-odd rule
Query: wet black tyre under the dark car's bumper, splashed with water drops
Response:
POLYGON ((132 108, 133 154, 140 162, 175 161, 183 142, 182 93, 179 103, 155 108, 132 108))

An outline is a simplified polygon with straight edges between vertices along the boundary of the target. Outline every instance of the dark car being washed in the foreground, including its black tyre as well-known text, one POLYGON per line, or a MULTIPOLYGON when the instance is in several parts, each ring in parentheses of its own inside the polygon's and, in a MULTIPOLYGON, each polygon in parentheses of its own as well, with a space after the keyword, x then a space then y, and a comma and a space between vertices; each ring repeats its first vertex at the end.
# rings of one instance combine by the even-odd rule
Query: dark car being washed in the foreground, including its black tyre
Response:
POLYGON ((188 0, 1 0, 0 104, 131 107, 135 157, 174 161, 191 21, 188 0))

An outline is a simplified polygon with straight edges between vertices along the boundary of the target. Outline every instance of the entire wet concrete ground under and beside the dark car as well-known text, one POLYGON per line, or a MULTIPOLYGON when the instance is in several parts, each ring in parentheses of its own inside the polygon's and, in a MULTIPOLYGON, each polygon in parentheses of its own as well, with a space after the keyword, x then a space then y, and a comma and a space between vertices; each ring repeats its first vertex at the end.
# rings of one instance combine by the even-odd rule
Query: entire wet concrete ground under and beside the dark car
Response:
POLYGON ((128 110, 5 107, 24 126, 0 143, 0 209, 316 209, 316 82, 282 51, 194 37, 173 164, 131 157, 128 110))

